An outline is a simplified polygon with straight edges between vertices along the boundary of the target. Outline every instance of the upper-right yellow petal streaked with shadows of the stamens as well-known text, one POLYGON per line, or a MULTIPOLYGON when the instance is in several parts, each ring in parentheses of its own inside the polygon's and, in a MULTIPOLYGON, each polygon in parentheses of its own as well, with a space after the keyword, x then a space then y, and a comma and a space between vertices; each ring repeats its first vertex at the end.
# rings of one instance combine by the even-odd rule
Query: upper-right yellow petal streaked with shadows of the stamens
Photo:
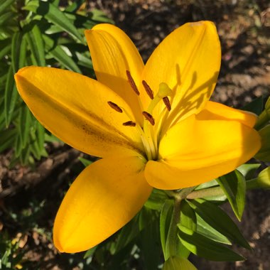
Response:
POLYGON ((205 107, 217 81, 220 59, 220 41, 210 21, 185 23, 158 45, 146 63, 143 79, 154 92, 161 82, 173 90, 167 125, 205 107))

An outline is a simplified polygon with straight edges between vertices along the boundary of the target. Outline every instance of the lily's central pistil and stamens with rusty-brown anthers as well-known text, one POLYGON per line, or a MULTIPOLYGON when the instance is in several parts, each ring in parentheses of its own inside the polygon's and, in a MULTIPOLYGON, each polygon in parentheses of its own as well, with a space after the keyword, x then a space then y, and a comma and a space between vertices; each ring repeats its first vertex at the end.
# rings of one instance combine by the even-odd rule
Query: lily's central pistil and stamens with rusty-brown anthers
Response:
MULTIPOLYGON (((140 92, 136 87, 136 83, 131 77, 131 73, 129 72, 129 70, 126 70, 126 77, 129 85, 131 86, 131 89, 134 90, 136 95, 139 96, 140 92)), ((111 101, 109 101, 108 104, 116 112, 126 114, 126 116, 129 118, 129 121, 124 122, 123 125, 134 127, 136 131, 139 132, 139 135, 141 136, 141 141, 144 144, 144 149, 148 160, 157 160, 158 132, 161 129, 161 119, 164 112, 166 112, 166 109, 168 109, 168 111, 171 111, 171 103, 168 97, 171 97, 173 92, 165 82, 161 82, 158 92, 154 96, 151 87, 149 87, 145 80, 142 81, 142 85, 144 86, 144 90, 146 91, 148 97, 150 97, 151 99, 151 102, 149 103, 146 111, 141 112, 141 114, 144 116, 144 122, 142 126, 138 124, 138 121, 136 121, 134 117, 131 117, 131 115, 129 115, 129 113, 126 112, 126 109, 124 109, 123 107, 119 107, 117 104, 111 101), (156 106, 159 104, 159 102, 161 102, 161 100, 165 104, 166 108, 164 108, 163 111, 158 114, 157 119, 154 119, 153 109, 156 108, 156 106)), ((139 102, 141 103, 141 99, 139 99, 139 102)), ((142 104, 140 105, 141 108, 143 108, 142 104)))

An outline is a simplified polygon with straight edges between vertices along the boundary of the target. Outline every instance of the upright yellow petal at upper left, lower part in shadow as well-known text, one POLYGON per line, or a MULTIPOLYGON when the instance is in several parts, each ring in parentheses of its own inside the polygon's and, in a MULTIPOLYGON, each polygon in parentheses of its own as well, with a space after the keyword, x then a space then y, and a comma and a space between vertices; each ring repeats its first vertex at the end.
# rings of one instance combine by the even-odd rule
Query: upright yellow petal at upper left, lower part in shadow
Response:
POLYGON ((97 80, 117 92, 142 119, 139 98, 126 77, 129 70, 136 85, 141 84, 144 63, 134 43, 121 29, 107 23, 85 31, 85 36, 97 80))

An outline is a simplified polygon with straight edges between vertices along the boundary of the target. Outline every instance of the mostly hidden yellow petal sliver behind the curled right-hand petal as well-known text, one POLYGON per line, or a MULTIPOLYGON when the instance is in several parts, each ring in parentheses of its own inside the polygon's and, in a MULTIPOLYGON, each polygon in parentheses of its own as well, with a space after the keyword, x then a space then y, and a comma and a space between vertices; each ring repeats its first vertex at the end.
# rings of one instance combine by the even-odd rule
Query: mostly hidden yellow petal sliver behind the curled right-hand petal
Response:
POLYGON ((222 120, 240 121, 246 126, 253 127, 257 121, 257 115, 252 112, 242 111, 241 109, 234 109, 217 102, 207 102, 205 108, 198 114, 197 119, 212 119, 216 118, 222 120))

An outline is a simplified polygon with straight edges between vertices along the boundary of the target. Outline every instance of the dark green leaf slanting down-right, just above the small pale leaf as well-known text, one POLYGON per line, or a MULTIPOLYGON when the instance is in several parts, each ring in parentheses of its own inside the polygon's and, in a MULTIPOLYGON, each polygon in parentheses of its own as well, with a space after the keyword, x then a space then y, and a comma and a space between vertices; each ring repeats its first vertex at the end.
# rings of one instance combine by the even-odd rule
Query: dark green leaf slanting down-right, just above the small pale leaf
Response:
POLYGON ((237 225, 235 225, 232 219, 220 207, 202 199, 188 201, 188 203, 193 207, 196 214, 211 227, 217 229, 218 232, 240 246, 250 249, 249 243, 244 239, 237 225))

